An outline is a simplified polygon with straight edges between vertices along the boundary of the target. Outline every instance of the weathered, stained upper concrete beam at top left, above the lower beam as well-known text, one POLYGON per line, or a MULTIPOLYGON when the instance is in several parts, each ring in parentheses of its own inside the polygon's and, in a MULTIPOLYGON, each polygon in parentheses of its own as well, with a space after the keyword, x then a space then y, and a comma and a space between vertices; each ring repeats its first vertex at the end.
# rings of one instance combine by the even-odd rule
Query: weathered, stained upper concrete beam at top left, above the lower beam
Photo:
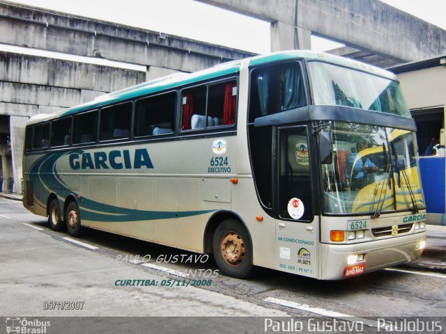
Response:
POLYGON ((0 42, 192 72, 252 56, 155 31, 0 1, 0 42), (167 56, 168 55, 168 56, 167 56))

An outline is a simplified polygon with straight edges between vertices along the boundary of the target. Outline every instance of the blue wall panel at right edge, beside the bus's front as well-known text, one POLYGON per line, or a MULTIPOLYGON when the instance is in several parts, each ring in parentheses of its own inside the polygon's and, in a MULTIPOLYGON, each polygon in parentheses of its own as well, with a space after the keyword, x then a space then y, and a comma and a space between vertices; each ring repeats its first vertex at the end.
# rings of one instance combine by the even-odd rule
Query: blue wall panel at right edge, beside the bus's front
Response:
POLYGON ((445 214, 445 157, 420 157, 426 212, 445 214))

